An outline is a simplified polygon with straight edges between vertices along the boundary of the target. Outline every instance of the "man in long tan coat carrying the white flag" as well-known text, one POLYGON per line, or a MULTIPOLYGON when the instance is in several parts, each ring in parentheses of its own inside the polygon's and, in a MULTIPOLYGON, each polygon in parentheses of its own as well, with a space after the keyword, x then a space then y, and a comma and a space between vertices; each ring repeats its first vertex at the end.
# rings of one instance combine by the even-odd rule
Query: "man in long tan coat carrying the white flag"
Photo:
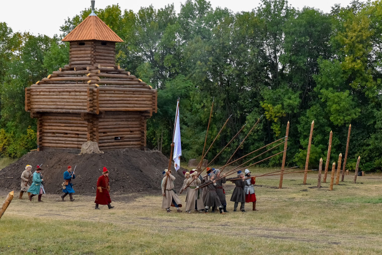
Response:
POLYGON ((179 207, 182 207, 182 202, 179 197, 174 192, 174 180, 175 177, 171 175, 171 170, 165 169, 165 176, 162 179, 162 208, 166 209, 167 212, 170 212, 170 206, 176 207, 177 212, 181 212, 182 210, 179 207))

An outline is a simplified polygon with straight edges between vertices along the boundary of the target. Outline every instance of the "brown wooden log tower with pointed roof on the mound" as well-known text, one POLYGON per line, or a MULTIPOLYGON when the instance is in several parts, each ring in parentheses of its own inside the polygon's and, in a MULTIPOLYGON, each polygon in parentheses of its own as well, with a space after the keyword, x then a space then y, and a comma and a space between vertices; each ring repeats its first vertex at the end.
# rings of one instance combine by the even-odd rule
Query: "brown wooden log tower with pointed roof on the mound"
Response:
POLYGON ((86 141, 101 150, 144 149, 157 91, 116 65, 123 40, 92 12, 62 41, 70 44, 69 64, 25 89, 38 150, 79 152, 86 141))

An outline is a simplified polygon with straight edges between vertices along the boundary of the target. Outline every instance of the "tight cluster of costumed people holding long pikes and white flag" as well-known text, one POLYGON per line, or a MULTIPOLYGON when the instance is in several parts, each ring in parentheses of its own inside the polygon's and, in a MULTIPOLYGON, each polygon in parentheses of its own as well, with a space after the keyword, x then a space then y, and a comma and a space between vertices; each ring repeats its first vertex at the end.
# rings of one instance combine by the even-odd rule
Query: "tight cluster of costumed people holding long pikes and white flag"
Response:
MULTIPOLYGON (((164 175, 162 179, 162 208, 166 209, 167 212, 171 212, 170 207, 176 208, 177 212, 182 212, 180 210, 181 201, 176 195, 174 190, 175 177, 171 175, 171 170, 165 169, 162 173, 164 175)), ((234 212, 237 211, 237 207, 240 203, 240 211, 245 212, 245 203, 252 202, 252 210, 256 210, 256 195, 254 184, 256 182, 255 177, 251 177, 251 172, 245 169, 244 173, 242 171, 237 172, 237 177, 226 178, 224 174, 220 176, 221 172, 219 169, 207 167, 207 175, 202 177, 201 174, 197 172, 197 169, 193 169, 189 173, 184 173, 183 186, 180 193, 185 191, 185 211, 187 213, 204 212, 208 213, 211 208, 211 212, 215 212, 215 209, 219 209, 221 214, 227 213, 227 201, 226 193, 223 188, 223 184, 227 181, 231 181, 235 184, 235 189, 233 190, 231 201, 234 202, 234 212)))

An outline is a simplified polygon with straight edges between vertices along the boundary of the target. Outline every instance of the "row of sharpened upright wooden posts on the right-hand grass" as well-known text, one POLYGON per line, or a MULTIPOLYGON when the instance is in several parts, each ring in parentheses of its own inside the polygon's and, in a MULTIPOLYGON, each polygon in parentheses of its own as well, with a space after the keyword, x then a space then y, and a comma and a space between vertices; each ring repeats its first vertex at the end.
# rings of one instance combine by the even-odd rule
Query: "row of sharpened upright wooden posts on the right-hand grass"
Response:
MULTIPOLYGON (((306 161, 305 161, 305 172, 304 172, 304 181, 303 181, 304 185, 306 185, 306 183, 307 183, 308 164, 309 164, 310 149, 311 149, 311 145, 312 145, 313 128, 314 128, 314 121, 312 121, 311 130, 310 130, 310 134, 309 134, 308 151, 307 151, 307 158, 306 158, 306 161)), ((349 149, 350 131, 351 131, 351 124, 349 125, 349 130, 348 130, 348 134, 347 134, 346 151, 345 151, 344 163, 343 163, 343 167, 342 167, 341 182, 344 181, 345 172, 348 172, 348 171, 346 171, 345 167, 346 167, 347 153, 348 153, 348 149, 349 149)), ((288 124, 287 124, 287 131, 285 132, 285 137, 286 138, 285 138, 285 142, 284 142, 284 150, 283 150, 284 152, 283 152, 283 156, 282 156, 280 182, 279 182, 279 185, 278 185, 279 189, 282 188, 283 170, 284 170, 284 167, 285 167, 285 158, 287 156, 288 137, 289 137, 288 134, 289 134, 289 121, 288 121, 288 124)), ((326 156, 326 163, 325 163, 325 169, 324 169, 324 178, 323 178, 323 182, 324 183, 326 183, 326 178, 327 178, 327 174, 328 174, 329 161, 330 161, 330 153, 331 153, 331 149, 332 149, 332 137, 333 137, 333 132, 330 131, 328 153, 327 153, 327 156, 326 156)), ((359 166, 360 159, 361 159, 361 157, 358 156, 357 164, 355 166, 355 175, 354 175, 353 183, 356 183, 356 181, 357 181, 358 166, 359 166)), ((317 184, 317 188, 321 188, 322 162, 323 162, 323 160, 321 158, 320 159, 320 164, 319 164, 319 169, 318 169, 318 184, 317 184)), ((340 174, 341 174, 341 162, 342 162, 342 153, 340 153, 339 156, 338 156, 337 172, 336 172, 336 182, 335 182, 336 185, 339 184, 339 179, 340 179, 340 174)), ((335 166, 336 166, 336 162, 333 162, 329 190, 333 190, 334 175, 335 175, 335 166)))

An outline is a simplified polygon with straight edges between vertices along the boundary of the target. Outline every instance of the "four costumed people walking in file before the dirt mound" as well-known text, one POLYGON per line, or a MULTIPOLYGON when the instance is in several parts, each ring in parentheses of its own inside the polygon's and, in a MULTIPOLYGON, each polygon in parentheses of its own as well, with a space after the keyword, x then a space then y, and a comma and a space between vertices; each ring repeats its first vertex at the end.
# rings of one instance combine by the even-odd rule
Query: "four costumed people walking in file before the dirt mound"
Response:
MULTIPOLYGON (((25 171, 21 174, 21 191, 19 199, 23 199, 24 192, 28 192, 29 201, 32 201, 33 197, 38 195, 38 202, 43 202, 41 196, 45 194, 44 190, 44 179, 41 174, 42 168, 37 165, 36 171, 32 174, 32 165, 27 164, 25 166, 25 171)), ((74 201, 73 194, 75 193, 73 189, 72 180, 75 179, 74 171, 69 165, 67 170, 63 175, 64 182, 62 183, 62 195, 61 200, 65 202, 65 197, 69 195, 70 201, 74 201)), ((110 198, 110 185, 109 185, 109 171, 106 167, 103 168, 102 176, 98 178, 97 181, 97 194, 95 209, 100 209, 99 205, 108 205, 109 209, 114 208, 110 203, 112 202, 110 198)))

